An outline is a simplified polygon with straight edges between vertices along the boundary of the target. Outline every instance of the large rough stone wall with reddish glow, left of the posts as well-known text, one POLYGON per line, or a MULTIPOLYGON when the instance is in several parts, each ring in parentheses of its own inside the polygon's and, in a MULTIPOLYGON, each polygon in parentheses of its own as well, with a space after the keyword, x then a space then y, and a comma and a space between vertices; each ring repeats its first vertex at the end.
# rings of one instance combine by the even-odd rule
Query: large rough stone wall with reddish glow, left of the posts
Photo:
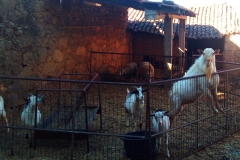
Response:
MULTIPOLYGON (((0 75, 47 78, 63 72, 88 73, 91 49, 131 52, 127 8, 64 2, 70 3, 61 9, 59 0, 0 1, 0 75)), ((102 58, 111 62, 111 55, 102 58)), ((95 56, 92 71, 108 70, 108 62, 95 56)), ((5 94, 13 93, 6 89, 9 84, 0 85, 5 94)))

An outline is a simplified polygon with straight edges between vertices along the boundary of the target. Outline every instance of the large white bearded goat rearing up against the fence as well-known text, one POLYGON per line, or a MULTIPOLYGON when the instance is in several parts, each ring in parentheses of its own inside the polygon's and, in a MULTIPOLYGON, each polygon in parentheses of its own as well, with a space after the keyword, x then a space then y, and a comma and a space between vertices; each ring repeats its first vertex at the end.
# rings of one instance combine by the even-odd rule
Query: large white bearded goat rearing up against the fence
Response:
POLYGON ((183 109, 183 105, 193 103, 200 96, 205 94, 211 99, 212 110, 215 113, 222 112, 223 109, 217 101, 217 86, 219 84, 219 75, 216 73, 215 55, 219 49, 213 50, 206 48, 204 51, 198 49, 202 55, 195 61, 183 77, 191 77, 205 74, 197 78, 183 79, 173 84, 169 92, 170 97, 170 124, 172 125, 174 117, 183 109), (213 103, 215 102, 215 105, 213 103))

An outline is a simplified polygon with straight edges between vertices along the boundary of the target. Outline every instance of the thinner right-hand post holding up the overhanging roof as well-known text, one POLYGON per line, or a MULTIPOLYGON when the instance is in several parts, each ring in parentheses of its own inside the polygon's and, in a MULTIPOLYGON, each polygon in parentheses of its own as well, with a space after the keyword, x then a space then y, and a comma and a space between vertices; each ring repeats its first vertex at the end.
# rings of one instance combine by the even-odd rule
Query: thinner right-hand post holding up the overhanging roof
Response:
MULTIPOLYGON (((185 32, 186 32, 186 20, 180 19, 179 23, 179 56, 185 57, 185 32)), ((179 59, 179 65, 182 66, 182 72, 185 72, 185 58, 179 59)))

